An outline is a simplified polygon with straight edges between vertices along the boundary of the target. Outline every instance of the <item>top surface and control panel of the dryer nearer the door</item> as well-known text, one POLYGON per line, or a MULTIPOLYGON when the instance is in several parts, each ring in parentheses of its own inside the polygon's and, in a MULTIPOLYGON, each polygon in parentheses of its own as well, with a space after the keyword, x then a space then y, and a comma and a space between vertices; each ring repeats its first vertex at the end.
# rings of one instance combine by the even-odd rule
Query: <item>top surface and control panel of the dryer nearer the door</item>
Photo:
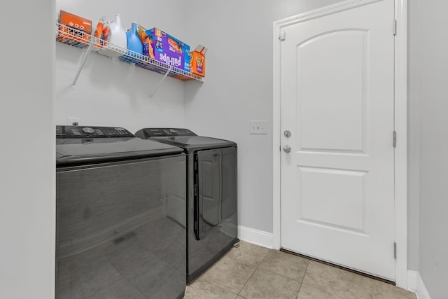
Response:
POLYGON ((179 146, 183 148, 186 153, 206 148, 237 146, 233 141, 214 137, 197 136, 197 134, 188 129, 144 128, 137 131, 135 136, 179 146))

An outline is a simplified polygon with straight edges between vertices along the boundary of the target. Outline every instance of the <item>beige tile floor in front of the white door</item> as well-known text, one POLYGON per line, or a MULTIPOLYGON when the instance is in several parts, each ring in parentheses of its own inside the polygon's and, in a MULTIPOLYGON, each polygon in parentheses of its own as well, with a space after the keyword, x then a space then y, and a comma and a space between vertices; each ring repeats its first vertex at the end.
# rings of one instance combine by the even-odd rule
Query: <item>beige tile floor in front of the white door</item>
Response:
POLYGON ((416 299, 414 293, 300 256, 240 242, 186 288, 185 299, 416 299))

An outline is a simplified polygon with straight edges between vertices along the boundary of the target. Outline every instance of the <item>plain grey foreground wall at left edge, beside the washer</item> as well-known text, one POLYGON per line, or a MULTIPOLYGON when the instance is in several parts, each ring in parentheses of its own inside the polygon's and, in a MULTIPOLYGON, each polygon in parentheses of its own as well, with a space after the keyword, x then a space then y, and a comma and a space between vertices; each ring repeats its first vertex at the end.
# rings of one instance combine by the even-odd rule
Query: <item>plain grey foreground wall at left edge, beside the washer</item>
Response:
POLYGON ((0 298, 53 296, 53 11, 27 0, 0 12, 0 298))

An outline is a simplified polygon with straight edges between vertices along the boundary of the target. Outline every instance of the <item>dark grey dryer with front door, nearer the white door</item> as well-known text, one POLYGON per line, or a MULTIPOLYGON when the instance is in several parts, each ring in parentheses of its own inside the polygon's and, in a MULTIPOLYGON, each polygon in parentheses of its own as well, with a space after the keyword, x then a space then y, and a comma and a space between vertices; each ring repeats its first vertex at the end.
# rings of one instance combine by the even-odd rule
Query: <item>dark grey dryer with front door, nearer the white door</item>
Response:
POLYGON ((237 144, 187 129, 144 128, 142 139, 183 148, 187 160, 187 284, 237 239, 237 144))

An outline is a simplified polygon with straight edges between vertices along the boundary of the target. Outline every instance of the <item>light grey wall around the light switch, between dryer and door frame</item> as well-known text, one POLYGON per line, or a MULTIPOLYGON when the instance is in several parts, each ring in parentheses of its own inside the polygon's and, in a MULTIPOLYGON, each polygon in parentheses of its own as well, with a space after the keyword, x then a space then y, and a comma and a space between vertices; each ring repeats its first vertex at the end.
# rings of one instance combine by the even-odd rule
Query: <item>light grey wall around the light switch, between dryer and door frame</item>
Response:
POLYGON ((204 86, 186 85, 186 126, 237 142, 239 225, 272 232, 272 23, 337 2, 189 1, 188 37, 209 52, 204 86), (249 134, 250 120, 268 134, 249 134))

